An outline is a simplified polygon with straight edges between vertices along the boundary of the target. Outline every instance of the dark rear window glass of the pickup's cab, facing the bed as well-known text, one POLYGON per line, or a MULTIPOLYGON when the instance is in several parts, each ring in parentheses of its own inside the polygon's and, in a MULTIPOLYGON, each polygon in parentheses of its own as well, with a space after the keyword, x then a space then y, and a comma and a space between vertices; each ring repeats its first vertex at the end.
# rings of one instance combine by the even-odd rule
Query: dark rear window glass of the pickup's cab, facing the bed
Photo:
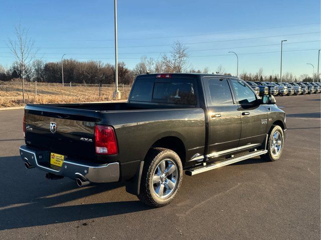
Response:
POLYGON ((196 105, 195 84, 185 79, 171 82, 137 79, 130 100, 196 105))

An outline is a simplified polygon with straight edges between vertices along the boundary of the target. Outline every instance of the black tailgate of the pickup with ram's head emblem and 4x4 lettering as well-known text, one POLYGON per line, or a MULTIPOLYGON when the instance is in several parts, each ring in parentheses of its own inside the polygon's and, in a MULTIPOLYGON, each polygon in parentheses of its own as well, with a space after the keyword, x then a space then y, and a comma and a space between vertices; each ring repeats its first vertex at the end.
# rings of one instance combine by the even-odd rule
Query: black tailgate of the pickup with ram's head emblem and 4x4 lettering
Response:
POLYGON ((95 156, 94 110, 27 105, 26 143, 50 152, 88 159, 95 156))

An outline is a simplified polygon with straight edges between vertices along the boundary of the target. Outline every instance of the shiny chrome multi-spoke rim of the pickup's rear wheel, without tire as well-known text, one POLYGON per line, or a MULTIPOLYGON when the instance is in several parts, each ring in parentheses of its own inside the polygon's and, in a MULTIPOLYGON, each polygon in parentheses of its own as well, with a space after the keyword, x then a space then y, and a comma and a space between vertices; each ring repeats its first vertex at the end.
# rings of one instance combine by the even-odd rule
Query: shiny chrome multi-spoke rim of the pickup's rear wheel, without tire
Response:
POLYGON ((159 198, 166 198, 170 196, 176 188, 178 180, 178 167, 176 163, 170 159, 163 159, 156 166, 152 185, 153 191, 159 198))

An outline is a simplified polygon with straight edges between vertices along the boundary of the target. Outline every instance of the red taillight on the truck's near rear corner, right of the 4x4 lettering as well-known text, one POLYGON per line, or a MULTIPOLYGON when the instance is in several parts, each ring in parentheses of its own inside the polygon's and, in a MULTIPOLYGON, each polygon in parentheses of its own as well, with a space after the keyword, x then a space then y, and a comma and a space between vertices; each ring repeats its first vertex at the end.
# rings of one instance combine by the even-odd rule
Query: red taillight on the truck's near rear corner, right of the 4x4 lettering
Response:
POLYGON ((115 132, 111 126, 95 125, 95 148, 97 154, 118 153, 115 132))

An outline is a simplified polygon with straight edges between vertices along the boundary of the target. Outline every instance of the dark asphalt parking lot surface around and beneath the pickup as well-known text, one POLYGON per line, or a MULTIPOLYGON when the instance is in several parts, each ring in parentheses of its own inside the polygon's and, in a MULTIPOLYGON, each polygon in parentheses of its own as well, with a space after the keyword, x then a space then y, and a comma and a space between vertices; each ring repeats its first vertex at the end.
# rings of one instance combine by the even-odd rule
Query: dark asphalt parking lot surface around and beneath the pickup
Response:
POLYGON ((279 161, 184 175, 162 208, 121 183, 78 188, 27 170, 23 110, 0 111, 0 239, 320 239, 320 94, 276 101, 288 127, 279 161))

